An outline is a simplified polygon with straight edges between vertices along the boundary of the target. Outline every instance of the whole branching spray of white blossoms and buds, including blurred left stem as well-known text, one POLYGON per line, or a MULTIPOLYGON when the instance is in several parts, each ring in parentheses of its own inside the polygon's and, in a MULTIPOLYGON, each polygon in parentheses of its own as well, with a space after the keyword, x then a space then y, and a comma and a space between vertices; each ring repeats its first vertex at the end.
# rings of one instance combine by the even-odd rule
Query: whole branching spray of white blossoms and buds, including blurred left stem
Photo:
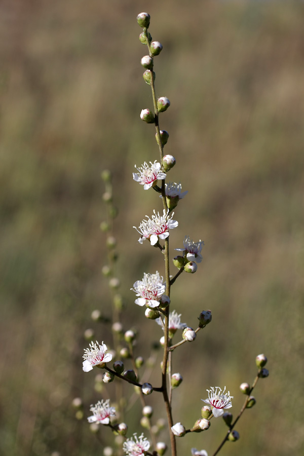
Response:
MULTIPOLYGON (((167 97, 156 97, 155 90, 155 72, 154 72, 154 58, 160 54, 163 47, 157 41, 152 41, 151 35, 148 32, 150 16, 147 13, 140 13, 137 16, 137 22, 142 27, 142 32, 139 36, 140 42, 147 46, 148 53, 141 59, 141 65, 145 68, 143 73, 144 81, 151 87, 152 99, 154 109, 142 109, 140 118, 147 124, 155 126, 156 141, 159 148, 159 161, 150 161, 149 164, 144 162, 143 165, 135 168, 137 172, 133 173, 134 181, 143 186, 144 190, 154 189, 156 193, 162 198, 163 208, 161 211, 154 209, 151 216, 145 216, 138 228, 135 229, 140 234, 139 243, 148 241, 151 246, 158 247, 164 255, 165 268, 164 275, 161 276, 158 271, 156 273, 143 273, 142 280, 137 280, 131 290, 136 294, 135 303, 138 306, 145 308, 145 316, 148 319, 156 320, 163 329, 163 336, 161 337, 161 346, 163 347, 163 361, 160 373, 160 385, 151 385, 148 380, 148 375, 143 374, 146 381, 140 381, 140 368, 143 365, 143 358, 141 356, 134 356, 134 341, 136 339, 136 331, 128 330, 123 331, 123 325, 120 323, 120 316, 122 312, 122 301, 120 295, 117 294, 119 287, 119 280, 113 275, 113 269, 117 256, 115 254, 116 240, 113 236, 107 237, 108 247, 108 262, 109 264, 103 268, 103 273, 109 278, 109 286, 112 290, 112 332, 113 332, 113 352, 107 349, 107 346, 102 342, 101 345, 91 342, 88 349, 85 349, 83 370, 85 372, 93 370, 98 367, 104 370, 102 375, 103 383, 111 383, 116 378, 116 407, 109 405, 109 399, 99 400, 95 405, 91 406, 93 415, 88 417, 89 423, 93 425, 104 425, 109 427, 113 432, 122 436, 123 441, 120 446, 114 450, 107 447, 105 456, 120 455, 123 450, 129 456, 143 456, 145 454, 153 454, 162 456, 166 449, 165 442, 158 442, 156 436, 160 428, 153 425, 153 408, 147 406, 145 403, 145 396, 151 393, 161 393, 158 398, 163 398, 164 408, 167 415, 168 434, 171 445, 171 455, 177 455, 176 437, 183 437, 193 432, 203 432, 210 428, 210 421, 213 417, 222 417, 223 422, 227 426, 227 431, 224 433, 224 438, 218 445, 217 449, 213 452, 213 456, 218 453, 226 441, 236 441, 239 438, 238 432, 234 429, 236 423, 240 419, 246 408, 251 408, 255 399, 251 396, 258 378, 267 377, 268 370, 264 368, 267 358, 264 355, 256 357, 257 375, 254 379, 252 386, 243 383, 240 390, 246 395, 243 407, 241 408, 238 416, 233 420, 233 415, 230 410, 233 406, 233 396, 230 391, 223 390, 219 387, 210 387, 207 389, 208 398, 202 399, 205 404, 201 408, 201 416, 196 420, 193 426, 186 427, 185 423, 174 420, 172 417, 172 390, 179 387, 182 382, 182 376, 179 372, 171 373, 172 354, 175 349, 182 344, 192 342, 196 339, 197 333, 200 329, 205 328, 211 322, 211 311, 203 310, 199 317, 199 324, 196 329, 188 326, 186 323, 181 323, 181 314, 178 314, 172 309, 171 303, 171 286, 175 280, 183 273, 194 274, 198 269, 198 263, 202 261, 202 248, 204 242, 199 240, 193 241, 191 237, 186 234, 183 240, 183 247, 175 248, 178 255, 173 258, 173 264, 178 269, 175 276, 170 276, 170 252, 169 252, 169 235, 170 231, 178 226, 178 221, 173 219, 174 213, 172 210, 178 205, 179 200, 184 198, 187 192, 182 192, 181 183, 166 182, 167 173, 175 165, 176 160, 172 155, 164 155, 164 146, 168 142, 169 134, 165 130, 160 130, 159 115, 170 106, 170 101, 167 97), (181 330, 181 337, 178 342, 173 344, 173 337, 181 330), (121 347, 121 341, 124 339, 126 347, 121 347), (112 368, 107 364, 112 361, 112 368), (119 359, 121 358, 121 359, 119 359), (130 360, 132 368, 125 370, 124 363, 130 360), (123 383, 133 385, 140 394, 142 404, 143 416, 140 424, 143 428, 147 429, 150 434, 151 443, 143 434, 127 438, 128 426, 124 422, 118 421, 118 416, 122 417, 126 413, 126 399, 123 397, 123 390, 121 385, 123 383), (117 413, 118 410, 118 413, 117 413), (151 449, 153 448, 153 449, 151 449)), ((116 211, 112 206, 111 186, 109 172, 104 171, 102 175, 106 183, 106 193, 104 194, 104 201, 108 205, 108 214, 110 220, 116 216, 116 211)), ((152 191, 152 190, 150 190, 152 191)), ((156 195, 156 196, 158 196, 156 195)), ((156 203, 159 203, 157 198, 156 203)), ((101 225, 102 231, 109 232, 111 230, 111 223, 103 222, 101 225)), ((95 320, 102 320, 102 316, 98 311, 94 311, 95 320)), ((103 320, 104 321, 104 320, 103 320)), ((155 324, 155 323, 153 323, 155 324)), ((108 344, 108 341, 107 341, 108 344)), ((198 400, 201 399, 202 392, 198 393, 198 400)), ((186 437, 187 438, 187 437, 186 437)), ((188 454, 194 456, 207 456, 205 449, 198 450, 191 448, 189 443, 188 454)))

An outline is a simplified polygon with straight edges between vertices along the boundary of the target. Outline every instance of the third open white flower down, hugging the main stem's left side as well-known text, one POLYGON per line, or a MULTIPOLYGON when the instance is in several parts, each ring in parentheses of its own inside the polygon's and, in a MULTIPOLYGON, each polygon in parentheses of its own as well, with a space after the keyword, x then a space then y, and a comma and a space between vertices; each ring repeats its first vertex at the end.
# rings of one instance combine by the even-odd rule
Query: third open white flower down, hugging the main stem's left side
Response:
POLYGON ((133 287, 134 288, 131 288, 131 290, 135 291, 136 296, 140 296, 135 299, 135 304, 138 306, 146 305, 151 308, 160 305, 160 300, 166 290, 166 286, 163 283, 163 277, 159 275, 158 271, 156 274, 143 273, 143 279, 137 280, 133 287))

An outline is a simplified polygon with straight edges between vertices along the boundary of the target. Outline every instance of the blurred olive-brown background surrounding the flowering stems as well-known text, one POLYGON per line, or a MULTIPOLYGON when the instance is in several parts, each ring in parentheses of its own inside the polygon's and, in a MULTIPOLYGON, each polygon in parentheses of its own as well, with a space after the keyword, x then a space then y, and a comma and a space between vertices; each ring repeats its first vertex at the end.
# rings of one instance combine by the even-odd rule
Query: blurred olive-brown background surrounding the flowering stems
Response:
MULTIPOLYGON (((198 272, 183 274, 172 288, 172 307, 192 326, 201 310, 213 314, 196 342, 174 357, 173 371, 184 377, 174 392, 174 421, 192 426, 211 385, 226 385, 237 414, 239 385, 252 382, 254 358, 265 353, 270 376, 258 383, 257 404, 237 426, 240 440, 221 454, 302 454, 304 5, 6 0, 1 455, 97 456, 111 442, 108 429, 100 431, 101 443, 90 433, 86 417, 100 394, 94 373, 82 372, 84 330, 110 340, 109 328, 90 318, 94 309, 109 313, 99 230, 104 168, 113 173, 120 211, 124 327, 135 321, 139 328, 137 355, 148 356, 150 341, 162 335, 129 291, 143 272, 163 274, 161 254, 147 242, 140 246, 132 228, 161 209, 156 194, 132 180, 134 164, 158 159, 154 129, 139 119, 142 108, 153 107, 140 66, 141 11, 150 13, 150 32, 164 46, 155 70, 157 94, 171 100, 160 119, 170 133, 165 152, 177 159, 168 178, 189 191, 175 210, 179 227, 170 245, 181 247, 185 234, 205 241, 198 272), (84 399, 85 421, 75 420, 75 396, 84 399)), ((157 416, 165 416, 162 404, 157 416)), ((138 417, 139 403, 130 432, 141 432, 138 417)), ((197 447, 211 455, 224 433, 213 420, 208 432, 179 439, 179 454, 197 447)))

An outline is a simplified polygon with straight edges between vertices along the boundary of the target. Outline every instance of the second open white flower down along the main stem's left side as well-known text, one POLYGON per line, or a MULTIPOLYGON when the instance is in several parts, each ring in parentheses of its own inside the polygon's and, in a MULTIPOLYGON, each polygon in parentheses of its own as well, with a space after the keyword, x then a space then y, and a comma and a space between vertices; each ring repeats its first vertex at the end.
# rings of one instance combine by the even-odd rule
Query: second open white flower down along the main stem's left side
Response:
POLYGON ((139 230, 137 230, 136 226, 133 226, 141 235, 138 239, 140 244, 142 244, 145 239, 149 239, 151 245, 155 245, 158 242, 158 237, 160 239, 166 239, 169 236, 169 230, 178 226, 178 221, 172 220, 174 212, 172 212, 171 217, 169 217, 169 209, 167 212, 164 209, 163 215, 160 215, 159 212, 156 213, 155 210, 153 212, 154 215, 152 215, 151 218, 146 215, 147 220, 142 220, 139 225, 139 230))

